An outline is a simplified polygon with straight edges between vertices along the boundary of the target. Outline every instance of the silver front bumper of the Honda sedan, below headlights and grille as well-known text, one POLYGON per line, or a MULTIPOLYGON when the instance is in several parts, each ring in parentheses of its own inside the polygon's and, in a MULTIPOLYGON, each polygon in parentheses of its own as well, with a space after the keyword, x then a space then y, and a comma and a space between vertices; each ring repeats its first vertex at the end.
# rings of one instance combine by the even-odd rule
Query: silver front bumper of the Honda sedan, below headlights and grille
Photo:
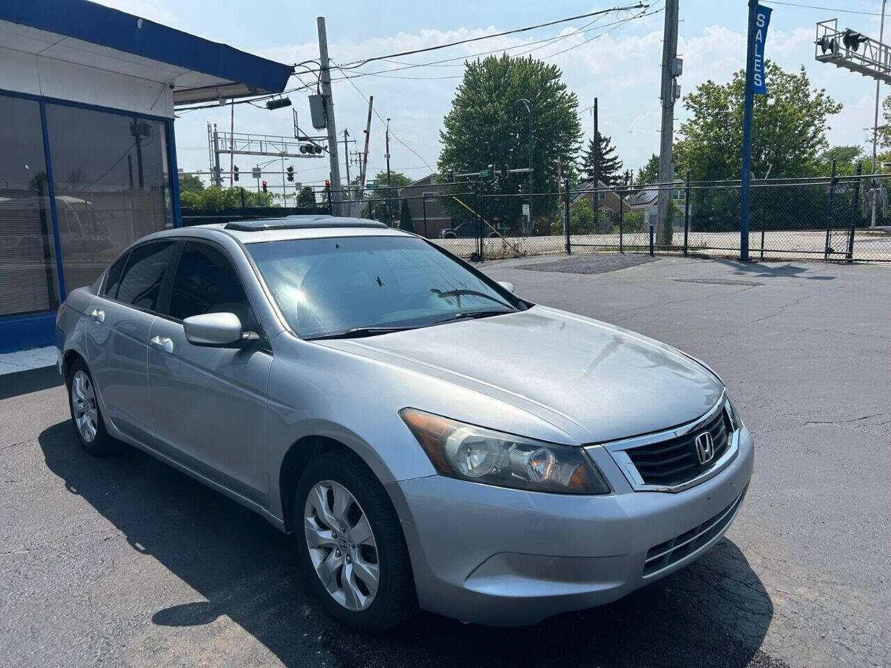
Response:
POLYGON ((718 542, 740 508, 755 452, 747 428, 739 438, 727 468, 680 493, 634 492, 604 461, 598 465, 616 493, 600 496, 442 476, 388 484, 421 607, 466 622, 532 624, 673 573, 718 542), (686 549, 657 562, 675 539, 686 549))

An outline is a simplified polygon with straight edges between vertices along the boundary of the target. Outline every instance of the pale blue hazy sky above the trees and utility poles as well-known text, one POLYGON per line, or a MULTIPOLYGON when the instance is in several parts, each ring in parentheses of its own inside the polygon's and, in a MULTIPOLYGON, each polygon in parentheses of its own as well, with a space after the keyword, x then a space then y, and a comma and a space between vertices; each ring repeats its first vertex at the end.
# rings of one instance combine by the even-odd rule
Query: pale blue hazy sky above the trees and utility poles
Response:
MULTIPOLYGON (((658 152, 659 141, 659 66, 665 20, 665 13, 660 10, 664 0, 647 1, 650 4, 647 15, 634 20, 622 21, 641 10, 571 20, 519 35, 494 37, 395 60, 429 63, 511 47, 516 47, 508 51, 511 54, 530 52, 560 67, 568 90, 578 96, 585 142, 593 133, 590 107, 596 96, 601 134, 611 136, 624 167, 637 170, 650 154, 658 152), (555 37, 560 39, 543 41, 555 37)), ((813 39, 816 22, 832 18, 838 18, 840 29, 853 28, 878 38, 880 0, 795 2, 816 5, 816 8, 764 0, 764 4, 773 8, 766 57, 784 69, 804 65, 813 86, 825 88, 844 105, 840 113, 830 118, 831 144, 858 144, 871 151, 871 130, 867 128, 873 123, 875 82, 815 61, 813 39)), ((207 3, 182 0, 102 0, 102 4, 284 63, 318 58, 315 17, 325 16, 331 60, 346 64, 626 6, 634 4, 634 0, 625 3, 622 0, 593 3, 576 0, 561 3, 217 0, 212 10, 207 3)), ((682 95, 707 79, 726 82, 733 71, 743 67, 747 12, 745 0, 680 0, 678 56, 683 59, 683 75, 678 81, 682 95)), ((888 29, 891 30, 891 25, 888 29)), ((347 128, 356 138, 363 136, 368 112, 366 97, 374 96, 374 108, 380 116, 376 114, 372 120, 369 175, 386 167, 384 123, 390 118, 391 169, 415 179, 436 168, 439 130, 450 109, 454 89, 461 82, 463 66, 461 60, 452 60, 435 66, 381 73, 401 67, 405 65, 392 61, 368 63, 353 72, 378 74, 336 81, 332 94, 339 134, 342 136, 343 129, 347 128)), ((307 83, 315 80, 311 76, 299 78, 307 83)), ((770 86, 769 80, 767 85, 770 86)), ((301 82, 292 77, 289 87, 297 86, 301 86, 301 82)), ((882 85, 883 97, 891 93, 884 90, 885 87, 882 85)), ((312 92, 290 94, 301 128, 309 126, 307 94, 312 92)), ((229 111, 228 107, 215 107, 184 113, 176 119, 179 167, 186 171, 208 170, 207 124, 217 123, 220 129, 228 129, 229 111)), ((676 138, 681 122, 687 118, 683 104, 675 106, 675 118, 676 138)), ((235 107, 234 125, 236 133, 293 134, 290 108, 269 111, 239 104, 235 107)), ((351 151, 361 148, 361 144, 350 146, 351 151)), ((340 173, 345 176, 343 144, 339 149, 340 173)), ((243 173, 257 164, 256 160, 243 156, 236 159, 235 164, 243 173)), ((228 160, 225 163, 228 165, 228 160)), ((295 167, 298 182, 323 183, 328 177, 327 160, 294 159, 290 163, 286 160, 285 164, 295 167)), ((356 167, 351 170, 355 176, 356 167)))

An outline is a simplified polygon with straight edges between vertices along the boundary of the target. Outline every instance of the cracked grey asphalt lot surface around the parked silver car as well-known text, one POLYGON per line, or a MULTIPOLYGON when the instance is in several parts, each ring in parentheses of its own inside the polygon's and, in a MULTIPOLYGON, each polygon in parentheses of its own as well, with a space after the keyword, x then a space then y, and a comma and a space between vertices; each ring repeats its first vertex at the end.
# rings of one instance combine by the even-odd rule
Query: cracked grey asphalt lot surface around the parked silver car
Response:
POLYGON ((305 592, 292 539, 141 452, 79 452, 54 371, 27 371, 0 376, 0 665, 891 664, 891 267, 574 256, 483 268, 723 376, 757 453, 715 549, 532 629, 420 615, 356 636, 305 592))

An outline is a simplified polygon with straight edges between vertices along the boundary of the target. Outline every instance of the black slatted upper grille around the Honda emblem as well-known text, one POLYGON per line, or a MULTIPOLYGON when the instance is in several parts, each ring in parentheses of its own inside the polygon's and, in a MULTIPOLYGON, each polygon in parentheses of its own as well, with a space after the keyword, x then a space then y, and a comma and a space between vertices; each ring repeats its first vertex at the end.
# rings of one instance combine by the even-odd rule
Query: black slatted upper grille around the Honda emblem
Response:
POLYGON ((727 411, 720 411, 702 428, 690 434, 640 445, 625 450, 646 485, 680 485, 699 476, 727 450, 732 428, 727 411), (708 431, 712 435, 715 455, 705 464, 699 463, 696 437, 708 431))

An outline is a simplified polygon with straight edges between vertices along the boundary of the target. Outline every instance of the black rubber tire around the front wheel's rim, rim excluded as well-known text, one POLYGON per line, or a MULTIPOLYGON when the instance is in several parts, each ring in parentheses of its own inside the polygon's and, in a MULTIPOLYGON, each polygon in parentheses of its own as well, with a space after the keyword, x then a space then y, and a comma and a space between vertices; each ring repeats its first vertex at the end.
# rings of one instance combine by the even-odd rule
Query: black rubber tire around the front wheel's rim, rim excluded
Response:
POLYGON ((293 517, 304 582, 332 617, 355 631, 379 633, 413 615, 416 597, 402 527, 383 485, 356 455, 346 451, 327 452, 309 462, 298 482, 293 517), (309 558, 303 531, 304 507, 309 491, 322 480, 333 480, 353 494, 368 517, 377 544, 378 591, 372 605, 358 612, 347 610, 331 597, 309 558))

